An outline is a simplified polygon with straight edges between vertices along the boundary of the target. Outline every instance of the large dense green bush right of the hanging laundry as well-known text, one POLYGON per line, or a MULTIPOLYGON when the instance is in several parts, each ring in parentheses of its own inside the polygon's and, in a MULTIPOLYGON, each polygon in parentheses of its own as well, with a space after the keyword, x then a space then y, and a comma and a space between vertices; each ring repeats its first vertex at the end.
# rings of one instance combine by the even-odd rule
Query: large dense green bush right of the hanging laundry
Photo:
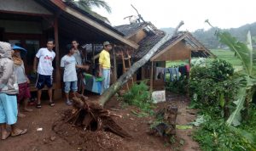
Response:
POLYGON ((236 93, 236 81, 232 80, 232 76, 234 68, 224 60, 213 60, 208 67, 193 67, 190 72, 189 92, 191 97, 197 96, 194 103, 197 106, 222 108, 230 105, 224 103, 230 103, 236 93))

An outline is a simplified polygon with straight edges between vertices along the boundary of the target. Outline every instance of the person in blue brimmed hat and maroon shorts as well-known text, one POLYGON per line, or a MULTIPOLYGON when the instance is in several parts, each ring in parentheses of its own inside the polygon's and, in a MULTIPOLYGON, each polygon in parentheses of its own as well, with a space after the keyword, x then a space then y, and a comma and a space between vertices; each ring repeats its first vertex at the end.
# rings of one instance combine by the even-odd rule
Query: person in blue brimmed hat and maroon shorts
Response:
POLYGON ((18 116, 19 117, 25 117, 26 115, 21 114, 20 111, 19 111, 19 105, 20 105, 22 99, 24 99, 24 108, 23 108, 23 110, 26 111, 26 112, 31 112, 32 111, 32 109, 27 108, 28 99, 31 98, 30 90, 29 90, 29 87, 28 87, 28 84, 30 83, 30 81, 26 76, 25 66, 24 66, 23 60, 20 57, 20 52, 26 53, 26 50, 24 48, 20 48, 20 47, 15 46, 15 45, 12 48, 15 51, 15 53, 13 53, 13 60, 14 60, 14 63, 15 63, 15 73, 16 73, 17 80, 18 80, 18 85, 19 85, 19 94, 17 95, 18 116))

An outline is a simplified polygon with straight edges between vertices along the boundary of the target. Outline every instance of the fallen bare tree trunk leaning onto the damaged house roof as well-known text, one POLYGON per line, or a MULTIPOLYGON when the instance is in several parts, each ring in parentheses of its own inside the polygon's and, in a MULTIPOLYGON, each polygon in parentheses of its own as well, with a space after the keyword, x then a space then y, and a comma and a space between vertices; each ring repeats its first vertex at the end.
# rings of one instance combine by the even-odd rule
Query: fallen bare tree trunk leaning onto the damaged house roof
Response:
POLYGON ((131 68, 125 72, 124 75, 120 76, 118 81, 113 83, 111 87, 109 87, 105 92, 103 92, 101 98, 99 98, 99 103, 104 106, 105 103, 108 102, 108 100, 113 97, 113 95, 119 91, 119 89, 131 78, 131 76, 144 64, 148 62, 149 59, 154 55, 154 53, 168 40, 172 38, 172 36, 175 36, 177 34, 178 29, 183 25, 183 21, 181 21, 177 27, 175 28, 175 31, 172 35, 166 35, 164 36, 160 42, 158 42, 154 48, 151 48, 148 53, 140 60, 138 60, 136 63, 131 65, 131 68))

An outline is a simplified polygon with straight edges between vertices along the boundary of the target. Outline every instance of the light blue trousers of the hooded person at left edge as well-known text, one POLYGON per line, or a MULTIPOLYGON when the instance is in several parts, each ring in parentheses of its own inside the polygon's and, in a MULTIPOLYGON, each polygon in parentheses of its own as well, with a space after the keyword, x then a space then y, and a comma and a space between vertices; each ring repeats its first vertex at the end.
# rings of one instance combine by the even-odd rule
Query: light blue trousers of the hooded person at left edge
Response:
POLYGON ((18 107, 16 95, 0 92, 0 124, 13 125, 17 122, 18 107))

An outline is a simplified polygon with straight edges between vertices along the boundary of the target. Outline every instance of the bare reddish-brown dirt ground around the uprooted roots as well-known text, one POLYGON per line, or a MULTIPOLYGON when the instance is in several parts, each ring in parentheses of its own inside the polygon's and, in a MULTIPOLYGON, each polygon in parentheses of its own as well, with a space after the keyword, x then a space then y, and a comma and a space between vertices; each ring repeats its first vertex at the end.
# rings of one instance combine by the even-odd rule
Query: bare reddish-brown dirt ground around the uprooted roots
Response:
MULTIPOLYGON (((94 101, 98 96, 90 94, 90 100, 94 101)), ((148 135, 149 124, 153 117, 137 117, 131 110, 137 108, 124 106, 119 100, 112 98, 106 105, 112 113, 122 115, 122 118, 113 117, 116 123, 127 131, 132 138, 119 137, 109 131, 83 131, 79 128, 63 124, 58 127, 53 125, 65 116, 68 109, 63 100, 57 100, 55 107, 49 107, 44 102, 42 109, 34 109, 31 113, 25 113, 26 117, 18 120, 20 128, 27 128, 26 135, 9 137, 0 140, 0 151, 50 151, 50 150, 139 150, 139 151, 195 151, 200 150, 197 143, 191 138, 191 129, 177 130, 175 143, 166 143, 163 137, 148 135), (43 128, 43 131, 37 131, 43 128)), ((158 103, 156 109, 161 109, 172 104, 177 106, 177 125, 186 125, 195 119, 195 110, 187 109, 188 99, 177 94, 166 94, 166 102, 158 103)))

